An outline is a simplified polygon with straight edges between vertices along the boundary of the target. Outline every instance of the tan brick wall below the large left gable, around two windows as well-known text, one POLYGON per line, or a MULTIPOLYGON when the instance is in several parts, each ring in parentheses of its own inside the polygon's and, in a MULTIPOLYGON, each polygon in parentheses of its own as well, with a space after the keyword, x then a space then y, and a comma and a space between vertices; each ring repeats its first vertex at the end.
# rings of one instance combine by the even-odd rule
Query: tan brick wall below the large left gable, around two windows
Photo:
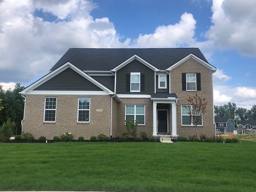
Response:
POLYGON ((109 95, 27 95, 23 131, 31 132, 35 139, 46 136, 48 140, 65 132, 71 132, 74 139, 83 136, 88 140, 100 133, 110 136, 110 105, 109 95), (55 123, 43 122, 45 97, 57 98, 55 123), (77 122, 79 97, 90 97, 89 123, 77 122), (97 109, 102 109, 102 112, 97 112, 97 109))

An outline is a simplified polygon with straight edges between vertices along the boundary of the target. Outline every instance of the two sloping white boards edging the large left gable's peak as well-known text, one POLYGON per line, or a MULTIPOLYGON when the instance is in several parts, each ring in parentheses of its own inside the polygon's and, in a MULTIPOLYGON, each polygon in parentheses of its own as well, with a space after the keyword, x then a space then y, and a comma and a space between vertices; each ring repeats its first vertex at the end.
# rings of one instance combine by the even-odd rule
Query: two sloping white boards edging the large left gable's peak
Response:
POLYGON ((28 86, 27 88, 22 90, 20 92, 20 94, 27 94, 27 93, 29 93, 30 91, 34 90, 36 87, 42 85, 43 83, 45 83, 46 81, 50 80, 51 78, 53 78, 57 74, 63 72, 64 70, 66 70, 69 67, 72 68, 75 72, 77 72, 81 76, 83 76, 84 78, 86 78, 87 80, 89 80, 90 82, 92 82, 93 84, 95 84, 96 86, 98 86, 99 88, 101 88, 102 90, 108 92, 108 94, 114 94, 114 92, 112 92, 110 89, 106 88, 104 85, 102 85, 99 82, 97 82, 96 80, 94 80, 94 78, 90 77, 88 74, 86 74, 85 72, 83 72, 82 70, 80 70, 79 68, 77 68, 76 66, 74 66, 70 62, 66 62, 64 65, 60 66, 56 70, 48 73, 46 76, 42 77, 40 80, 34 82, 30 86, 28 86))

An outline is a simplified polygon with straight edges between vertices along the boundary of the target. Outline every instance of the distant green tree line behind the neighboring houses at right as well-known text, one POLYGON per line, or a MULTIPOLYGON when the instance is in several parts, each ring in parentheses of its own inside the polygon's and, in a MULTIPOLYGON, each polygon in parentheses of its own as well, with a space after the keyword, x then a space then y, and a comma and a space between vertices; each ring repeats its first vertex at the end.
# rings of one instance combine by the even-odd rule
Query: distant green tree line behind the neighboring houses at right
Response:
POLYGON ((240 120, 256 120, 256 105, 247 110, 246 108, 237 107, 235 103, 228 102, 223 106, 214 106, 214 116, 230 117, 237 125, 240 120))

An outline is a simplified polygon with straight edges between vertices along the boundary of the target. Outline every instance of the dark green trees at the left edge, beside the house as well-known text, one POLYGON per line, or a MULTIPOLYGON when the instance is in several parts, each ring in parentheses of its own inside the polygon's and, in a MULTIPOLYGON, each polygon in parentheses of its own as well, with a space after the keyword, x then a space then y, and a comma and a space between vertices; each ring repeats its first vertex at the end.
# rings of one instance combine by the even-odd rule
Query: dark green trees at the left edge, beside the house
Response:
POLYGON ((15 85, 14 90, 4 91, 0 85, 0 127, 7 122, 15 123, 15 127, 12 128, 14 135, 21 134, 21 120, 24 113, 24 98, 19 94, 25 87, 19 83, 15 85), (1 108, 2 107, 2 108, 1 108))

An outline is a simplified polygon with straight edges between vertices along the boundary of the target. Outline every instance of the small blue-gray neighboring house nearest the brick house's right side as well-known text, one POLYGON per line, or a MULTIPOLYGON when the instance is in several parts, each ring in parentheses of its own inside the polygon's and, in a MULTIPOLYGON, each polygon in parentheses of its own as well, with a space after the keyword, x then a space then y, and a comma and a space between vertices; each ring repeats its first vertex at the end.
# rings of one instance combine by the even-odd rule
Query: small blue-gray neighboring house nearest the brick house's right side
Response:
POLYGON ((216 134, 233 133, 235 128, 235 122, 229 117, 214 117, 216 124, 216 134))

